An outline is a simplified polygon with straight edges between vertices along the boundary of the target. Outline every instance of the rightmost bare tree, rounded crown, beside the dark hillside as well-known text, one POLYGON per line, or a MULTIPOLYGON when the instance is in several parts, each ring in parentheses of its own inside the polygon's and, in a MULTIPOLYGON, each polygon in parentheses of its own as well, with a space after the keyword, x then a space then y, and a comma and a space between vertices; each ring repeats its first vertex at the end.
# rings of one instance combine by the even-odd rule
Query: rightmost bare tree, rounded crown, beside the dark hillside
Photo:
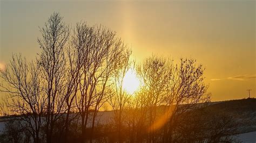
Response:
MULTIPOLYGON (((170 69, 171 80, 167 83, 168 90, 165 98, 169 107, 165 112, 164 142, 172 142, 173 131, 177 125, 177 119, 183 113, 192 109, 202 108, 210 101, 208 86, 204 83, 204 68, 197 65, 196 60, 180 59, 180 64, 170 69)), ((160 118, 161 119, 161 118, 160 118)))

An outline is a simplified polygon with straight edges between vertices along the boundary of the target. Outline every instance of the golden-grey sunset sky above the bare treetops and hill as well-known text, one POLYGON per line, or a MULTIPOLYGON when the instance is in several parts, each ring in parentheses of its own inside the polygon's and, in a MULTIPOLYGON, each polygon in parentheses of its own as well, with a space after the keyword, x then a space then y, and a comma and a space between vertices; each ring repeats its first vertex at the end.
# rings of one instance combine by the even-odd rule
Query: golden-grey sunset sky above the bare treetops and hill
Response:
MULTIPOLYGON (((102 24, 147 56, 197 59, 206 68, 212 101, 256 97, 255 1, 1 1, 0 68, 12 53, 39 52, 38 26, 53 12, 74 26, 102 24)), ((0 94, 3 95, 3 94, 0 94)))

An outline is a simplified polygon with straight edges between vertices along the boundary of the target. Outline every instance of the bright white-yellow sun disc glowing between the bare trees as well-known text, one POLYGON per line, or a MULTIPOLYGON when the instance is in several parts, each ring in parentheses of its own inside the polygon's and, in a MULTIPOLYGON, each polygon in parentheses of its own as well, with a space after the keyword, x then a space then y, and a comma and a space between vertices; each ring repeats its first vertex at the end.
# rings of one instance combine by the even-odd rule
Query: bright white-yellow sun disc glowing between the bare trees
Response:
POLYGON ((139 79, 134 70, 129 69, 124 76, 123 88, 129 94, 133 94, 139 88, 139 79))

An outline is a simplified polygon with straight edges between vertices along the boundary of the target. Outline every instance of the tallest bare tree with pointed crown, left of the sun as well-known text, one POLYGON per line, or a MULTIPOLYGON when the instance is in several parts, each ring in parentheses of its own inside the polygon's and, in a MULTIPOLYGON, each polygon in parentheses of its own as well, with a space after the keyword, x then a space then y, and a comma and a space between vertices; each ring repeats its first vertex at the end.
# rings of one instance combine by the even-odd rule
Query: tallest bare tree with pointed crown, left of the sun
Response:
POLYGON ((39 65, 46 102, 46 140, 52 141, 53 128, 63 113, 66 88, 66 58, 64 47, 69 38, 69 27, 62 22, 59 13, 53 13, 45 26, 40 28, 42 39, 38 39, 41 53, 39 65))

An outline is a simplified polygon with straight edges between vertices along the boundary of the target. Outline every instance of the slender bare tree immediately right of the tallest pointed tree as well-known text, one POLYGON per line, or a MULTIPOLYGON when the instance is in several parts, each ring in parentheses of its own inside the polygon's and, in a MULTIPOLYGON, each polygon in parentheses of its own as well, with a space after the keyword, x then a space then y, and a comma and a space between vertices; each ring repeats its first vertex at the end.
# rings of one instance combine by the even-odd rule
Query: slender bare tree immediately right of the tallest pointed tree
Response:
POLYGON ((65 131, 64 141, 68 141, 69 125, 78 114, 71 116, 71 111, 77 112, 75 99, 78 96, 79 84, 82 78, 82 68, 84 67, 85 60, 89 56, 90 44, 92 40, 92 27, 87 26, 85 23, 77 23, 71 35, 71 41, 66 48, 67 63, 67 85, 66 85, 66 116, 65 116, 65 131), (89 47, 89 48, 86 48, 89 47))

